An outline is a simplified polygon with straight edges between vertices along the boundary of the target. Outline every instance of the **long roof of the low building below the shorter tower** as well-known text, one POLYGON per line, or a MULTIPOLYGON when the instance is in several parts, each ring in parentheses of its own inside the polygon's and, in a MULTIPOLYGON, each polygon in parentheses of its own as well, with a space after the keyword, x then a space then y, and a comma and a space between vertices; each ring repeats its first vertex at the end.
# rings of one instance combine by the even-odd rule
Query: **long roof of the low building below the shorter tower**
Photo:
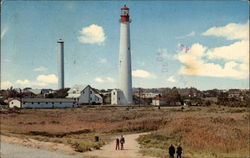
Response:
POLYGON ((74 99, 66 98, 23 98, 23 102, 74 102, 74 99))

